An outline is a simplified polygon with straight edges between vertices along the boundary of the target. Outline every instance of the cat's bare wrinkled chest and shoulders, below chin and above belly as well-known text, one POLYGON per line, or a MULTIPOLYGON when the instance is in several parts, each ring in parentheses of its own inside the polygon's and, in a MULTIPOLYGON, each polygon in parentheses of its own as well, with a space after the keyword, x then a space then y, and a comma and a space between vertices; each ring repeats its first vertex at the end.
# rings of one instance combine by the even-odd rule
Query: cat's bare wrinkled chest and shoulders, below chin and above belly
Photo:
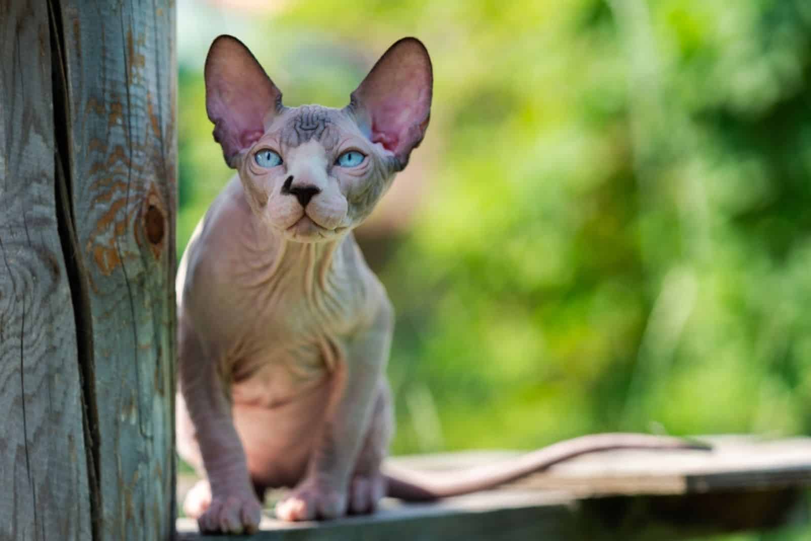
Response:
POLYGON ((230 373, 237 403, 271 407, 345 360, 382 288, 347 236, 329 245, 260 242, 222 219, 191 243, 182 313, 230 373))

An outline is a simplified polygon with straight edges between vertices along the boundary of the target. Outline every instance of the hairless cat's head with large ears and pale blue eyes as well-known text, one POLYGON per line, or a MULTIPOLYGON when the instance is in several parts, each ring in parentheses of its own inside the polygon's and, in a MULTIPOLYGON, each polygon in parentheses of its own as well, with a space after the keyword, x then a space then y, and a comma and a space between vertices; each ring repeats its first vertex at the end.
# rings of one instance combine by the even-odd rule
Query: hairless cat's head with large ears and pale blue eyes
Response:
POLYGON ((423 140, 431 59, 392 45, 343 109, 288 108, 242 42, 219 36, 205 65, 206 110, 255 215, 286 238, 333 239, 360 224, 423 140))

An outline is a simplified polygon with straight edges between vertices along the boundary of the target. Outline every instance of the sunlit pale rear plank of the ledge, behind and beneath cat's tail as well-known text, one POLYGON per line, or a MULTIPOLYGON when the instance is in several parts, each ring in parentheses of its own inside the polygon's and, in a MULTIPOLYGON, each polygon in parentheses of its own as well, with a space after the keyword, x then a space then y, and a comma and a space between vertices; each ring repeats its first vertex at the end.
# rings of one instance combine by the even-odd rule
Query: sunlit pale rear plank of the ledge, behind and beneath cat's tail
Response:
MULTIPOLYGON (((587 454, 505 488, 553 490, 578 498, 811 486, 811 439, 754 441, 707 437, 714 451, 622 450, 587 454)), ((393 468, 453 475, 453 469, 490 464, 514 452, 474 452, 397 458, 393 468)))

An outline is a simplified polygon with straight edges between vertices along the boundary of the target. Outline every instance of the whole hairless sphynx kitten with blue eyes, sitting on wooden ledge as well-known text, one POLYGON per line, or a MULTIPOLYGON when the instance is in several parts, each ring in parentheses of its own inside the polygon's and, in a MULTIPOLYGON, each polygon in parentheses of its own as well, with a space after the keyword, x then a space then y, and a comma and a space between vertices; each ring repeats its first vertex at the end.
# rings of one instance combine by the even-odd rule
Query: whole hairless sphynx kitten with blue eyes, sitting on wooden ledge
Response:
POLYGON ((384 475, 393 309, 352 229, 423 139, 427 50, 397 41, 344 109, 288 108, 247 47, 219 36, 205 87, 214 138, 238 173, 178 270, 178 451, 207 476, 184 504, 200 530, 256 530, 268 487, 293 488, 282 520, 337 518, 387 495, 492 488, 591 451, 696 446, 599 434, 445 481, 384 475))

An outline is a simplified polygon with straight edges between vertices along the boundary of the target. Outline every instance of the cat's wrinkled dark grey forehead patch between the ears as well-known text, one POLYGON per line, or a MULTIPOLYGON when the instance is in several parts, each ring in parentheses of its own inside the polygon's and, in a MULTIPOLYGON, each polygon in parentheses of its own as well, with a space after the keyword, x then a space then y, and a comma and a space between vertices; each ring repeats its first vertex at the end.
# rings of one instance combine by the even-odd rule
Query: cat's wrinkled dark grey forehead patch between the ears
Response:
POLYGON ((271 131, 276 130, 282 145, 299 147, 315 140, 326 151, 336 147, 347 130, 360 134, 358 126, 341 109, 329 109, 320 105, 289 109, 273 123, 271 131))

